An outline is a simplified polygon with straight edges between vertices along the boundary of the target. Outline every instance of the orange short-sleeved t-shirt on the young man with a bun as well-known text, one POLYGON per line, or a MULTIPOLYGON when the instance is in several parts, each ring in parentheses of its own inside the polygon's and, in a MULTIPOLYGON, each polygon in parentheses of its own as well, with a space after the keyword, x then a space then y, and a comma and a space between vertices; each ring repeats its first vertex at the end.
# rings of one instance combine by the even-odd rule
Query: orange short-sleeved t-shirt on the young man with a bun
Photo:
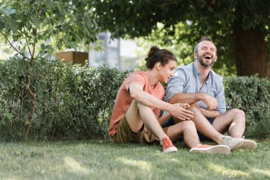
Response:
MULTIPOLYGON (((111 121, 109 122, 109 136, 113 137, 117 132, 117 125, 120 120, 126 115, 126 111, 129 110, 129 106, 131 105, 132 98, 129 93, 129 86, 132 83, 138 83, 143 87, 145 92, 157 97, 159 100, 163 100, 163 96, 165 94, 165 90, 161 83, 158 83, 156 87, 151 90, 151 86, 148 83, 148 78, 145 72, 143 71, 135 71, 129 77, 124 80, 124 83, 121 85, 117 92, 117 98, 114 103, 114 110, 112 111, 111 121)), ((153 113, 155 115, 160 115, 161 110, 156 108, 152 108, 153 113)))

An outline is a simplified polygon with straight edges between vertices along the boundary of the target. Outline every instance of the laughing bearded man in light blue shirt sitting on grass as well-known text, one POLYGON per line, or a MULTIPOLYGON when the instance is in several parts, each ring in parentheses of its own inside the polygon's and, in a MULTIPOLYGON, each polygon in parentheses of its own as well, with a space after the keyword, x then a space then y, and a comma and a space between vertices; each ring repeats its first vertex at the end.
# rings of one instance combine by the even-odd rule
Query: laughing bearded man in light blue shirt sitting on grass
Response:
MULTIPOLYGON (((231 150, 255 149, 256 142, 243 139, 245 114, 242 110, 226 112, 225 92, 220 77, 211 70, 217 61, 217 48, 211 38, 202 37, 194 48, 195 62, 175 70, 166 90, 166 100, 172 104, 192 104, 188 110, 193 114, 200 139, 212 139, 225 144, 231 150), (198 102, 198 103, 197 103, 198 102), (223 134, 228 132, 229 136, 223 134)), ((167 124, 181 122, 177 117, 167 124)))

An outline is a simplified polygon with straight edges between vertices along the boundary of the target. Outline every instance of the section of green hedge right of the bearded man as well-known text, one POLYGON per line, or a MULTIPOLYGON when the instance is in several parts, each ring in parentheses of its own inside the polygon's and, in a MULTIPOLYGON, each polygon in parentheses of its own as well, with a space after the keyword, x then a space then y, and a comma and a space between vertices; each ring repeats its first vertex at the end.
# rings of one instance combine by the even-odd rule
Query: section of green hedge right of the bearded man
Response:
POLYGON ((225 78, 227 109, 239 108, 246 113, 247 137, 269 137, 270 82, 256 76, 225 78))

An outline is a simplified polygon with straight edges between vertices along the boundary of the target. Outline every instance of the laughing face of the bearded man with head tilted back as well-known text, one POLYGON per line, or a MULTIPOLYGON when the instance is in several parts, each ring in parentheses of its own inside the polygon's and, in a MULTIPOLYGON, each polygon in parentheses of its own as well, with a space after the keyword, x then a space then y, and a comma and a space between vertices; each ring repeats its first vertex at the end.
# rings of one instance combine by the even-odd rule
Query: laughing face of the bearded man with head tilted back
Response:
POLYGON ((213 63, 217 60, 217 50, 211 41, 202 41, 198 44, 198 53, 194 55, 205 68, 211 68, 213 63))

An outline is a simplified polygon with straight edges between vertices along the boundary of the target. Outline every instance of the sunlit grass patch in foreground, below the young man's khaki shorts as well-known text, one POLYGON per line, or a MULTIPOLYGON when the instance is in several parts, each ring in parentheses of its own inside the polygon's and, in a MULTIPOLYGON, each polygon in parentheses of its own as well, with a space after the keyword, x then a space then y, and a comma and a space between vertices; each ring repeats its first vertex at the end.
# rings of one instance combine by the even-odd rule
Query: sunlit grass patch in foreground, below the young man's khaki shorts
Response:
POLYGON ((144 162, 144 161, 134 161, 131 159, 124 159, 124 158, 118 158, 117 161, 126 164, 128 166, 135 166, 139 168, 141 171, 144 171, 146 173, 150 172, 152 169, 151 163, 144 162))

